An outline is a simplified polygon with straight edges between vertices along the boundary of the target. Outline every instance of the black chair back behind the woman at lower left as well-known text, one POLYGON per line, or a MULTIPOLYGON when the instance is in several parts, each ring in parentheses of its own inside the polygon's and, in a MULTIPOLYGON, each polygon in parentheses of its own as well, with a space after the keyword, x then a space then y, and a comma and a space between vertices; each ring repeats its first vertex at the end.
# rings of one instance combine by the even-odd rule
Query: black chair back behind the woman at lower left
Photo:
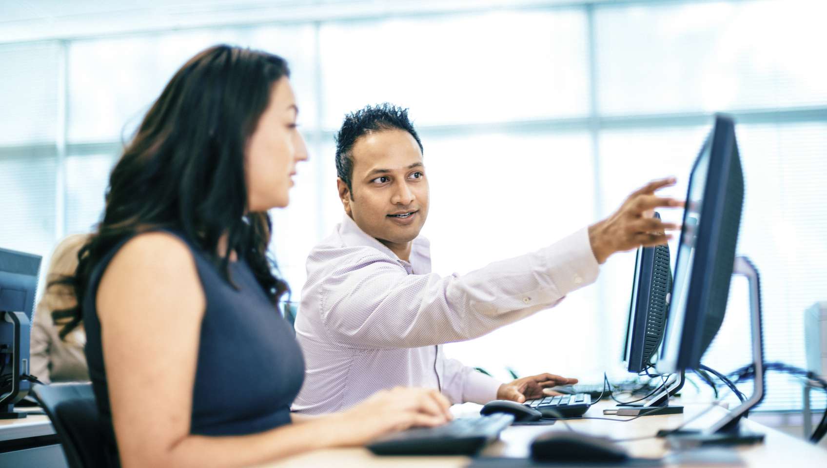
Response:
POLYGON ((70 468, 108 466, 92 384, 34 385, 33 390, 55 427, 70 468))

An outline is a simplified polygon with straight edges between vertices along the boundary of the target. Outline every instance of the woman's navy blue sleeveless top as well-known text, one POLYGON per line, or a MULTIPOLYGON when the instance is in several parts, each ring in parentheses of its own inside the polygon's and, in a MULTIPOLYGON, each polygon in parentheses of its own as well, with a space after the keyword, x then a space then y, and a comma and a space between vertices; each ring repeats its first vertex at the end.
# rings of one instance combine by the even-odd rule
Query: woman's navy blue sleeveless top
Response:
MULTIPOLYGON (((170 234, 189 246, 207 303, 198 341, 190 433, 237 436, 289 423, 290 404, 304 380, 302 351, 289 323, 276 312, 244 260, 230 263, 236 289, 219 275, 203 251, 183 235, 170 234)), ((104 270, 127 241, 112 249, 93 270, 83 308, 89 376, 112 465, 117 465, 117 446, 95 299, 104 270)), ((145 390, 146 410, 152 411, 152 401, 164 398, 165 382, 145 390)))

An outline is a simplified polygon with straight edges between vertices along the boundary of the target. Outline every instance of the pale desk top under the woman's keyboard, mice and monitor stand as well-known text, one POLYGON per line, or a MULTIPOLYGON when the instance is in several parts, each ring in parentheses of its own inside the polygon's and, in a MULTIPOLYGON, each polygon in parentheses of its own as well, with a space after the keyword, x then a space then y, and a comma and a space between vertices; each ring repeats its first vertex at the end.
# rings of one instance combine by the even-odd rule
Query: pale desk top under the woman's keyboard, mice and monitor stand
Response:
MULTIPOLYGON (((589 432, 612 438, 632 438, 653 436, 658 429, 678 427, 686 419, 691 418, 705 409, 706 404, 684 404, 685 413, 667 414, 661 416, 644 416, 628 423, 616 421, 605 421, 600 419, 582 419, 569 421, 571 427, 576 431, 589 432)), ((603 408, 611 408, 613 404, 600 402, 590 408, 586 413, 587 417, 603 417, 603 408)), ((479 407, 477 407, 479 408, 479 407)), ((724 414, 723 408, 713 408, 696 423, 703 424, 707 418, 719 418, 724 414)), ((613 418, 613 417, 609 417, 613 418)), ((795 437, 778 432, 770 427, 753 423, 749 420, 742 420, 742 427, 754 432, 765 434, 764 443, 753 446, 741 446, 734 449, 740 458, 740 463, 729 463, 729 466, 772 466, 773 468, 793 468, 827 466, 827 451, 804 442, 795 437)), ((500 435, 500 441, 491 444, 482 452, 483 456, 528 456, 528 446, 541 432, 566 431, 566 426, 557 422, 553 426, 516 426, 509 427, 500 435)), ((669 456, 670 452, 665 446, 663 439, 648 438, 633 442, 621 442, 627 447, 633 456, 658 458, 669 456)), ((672 453, 672 456, 676 454, 672 453)), ((290 457, 287 460, 264 465, 268 468, 281 466, 336 466, 337 468, 348 468, 356 466, 433 466, 433 467, 461 467, 467 466, 469 458, 464 456, 432 456, 432 457, 382 457, 374 456, 364 448, 330 449, 323 451, 308 452, 299 456, 290 457)), ((692 462, 681 462, 678 459, 667 461, 666 466, 706 466, 709 464, 697 464, 692 462)), ((715 466, 721 466, 715 464, 715 466)))

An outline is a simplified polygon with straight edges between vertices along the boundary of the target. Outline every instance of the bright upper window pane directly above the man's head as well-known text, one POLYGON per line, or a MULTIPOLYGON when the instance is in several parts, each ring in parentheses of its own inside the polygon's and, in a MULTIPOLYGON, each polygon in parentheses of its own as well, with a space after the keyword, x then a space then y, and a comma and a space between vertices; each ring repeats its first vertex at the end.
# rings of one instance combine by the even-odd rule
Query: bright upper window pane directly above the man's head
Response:
POLYGON ((585 40, 581 10, 325 23, 323 123, 385 101, 420 126, 584 116, 585 40))

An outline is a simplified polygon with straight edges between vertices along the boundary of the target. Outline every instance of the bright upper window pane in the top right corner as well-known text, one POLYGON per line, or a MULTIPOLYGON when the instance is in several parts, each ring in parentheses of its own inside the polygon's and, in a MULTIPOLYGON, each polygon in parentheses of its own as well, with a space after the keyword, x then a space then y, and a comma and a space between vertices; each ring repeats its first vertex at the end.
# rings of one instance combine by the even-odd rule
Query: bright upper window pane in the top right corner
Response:
POLYGON ((824 2, 669 2, 595 12, 600 112, 827 103, 824 2))

